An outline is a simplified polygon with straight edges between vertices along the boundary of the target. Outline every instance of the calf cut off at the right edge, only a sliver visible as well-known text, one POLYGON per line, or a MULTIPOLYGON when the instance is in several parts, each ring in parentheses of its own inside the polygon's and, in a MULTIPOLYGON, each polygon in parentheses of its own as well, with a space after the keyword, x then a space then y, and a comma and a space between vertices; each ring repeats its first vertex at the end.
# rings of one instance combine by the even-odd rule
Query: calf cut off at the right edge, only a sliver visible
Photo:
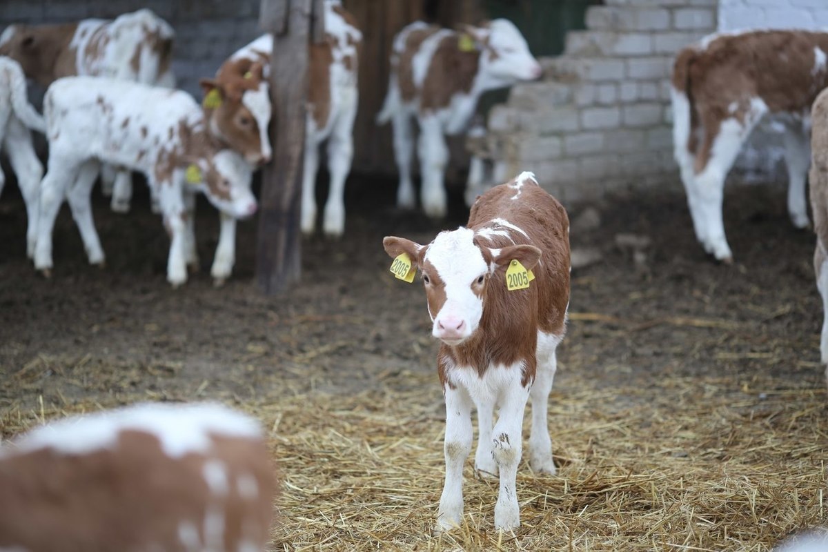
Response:
POLYGON ((811 212, 814 215, 816 288, 822 297, 820 356, 828 384, 828 89, 816 97, 811 111, 811 212))

